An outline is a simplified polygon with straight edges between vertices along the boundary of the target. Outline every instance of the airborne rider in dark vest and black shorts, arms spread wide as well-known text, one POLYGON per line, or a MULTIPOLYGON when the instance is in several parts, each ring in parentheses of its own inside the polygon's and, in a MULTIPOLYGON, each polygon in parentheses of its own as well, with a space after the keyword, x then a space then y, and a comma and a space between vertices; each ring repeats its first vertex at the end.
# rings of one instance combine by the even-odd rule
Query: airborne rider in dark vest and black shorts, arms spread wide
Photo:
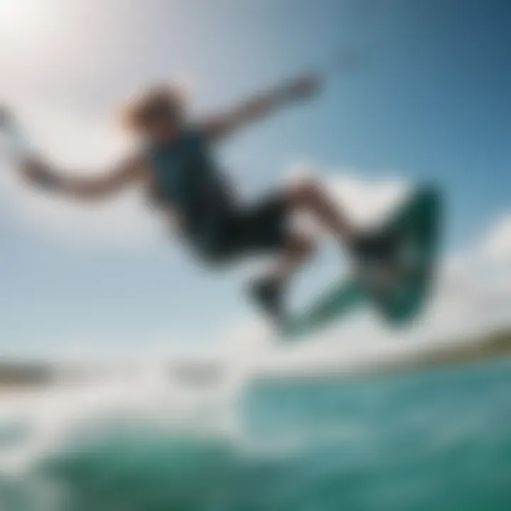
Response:
POLYGON ((286 283, 313 250, 312 241, 291 228, 291 214, 313 214, 357 257, 378 253, 385 240, 358 235, 317 180, 295 183, 254 204, 241 203, 219 171, 211 145, 283 106, 314 97, 321 85, 316 75, 305 75, 199 122, 189 121, 179 89, 151 87, 123 110, 123 123, 141 149, 102 177, 66 175, 35 157, 23 160, 21 172, 36 185, 80 200, 108 199, 143 185, 155 204, 177 219, 182 241, 207 263, 278 255, 275 267, 253 282, 251 295, 271 317, 282 319, 286 283))

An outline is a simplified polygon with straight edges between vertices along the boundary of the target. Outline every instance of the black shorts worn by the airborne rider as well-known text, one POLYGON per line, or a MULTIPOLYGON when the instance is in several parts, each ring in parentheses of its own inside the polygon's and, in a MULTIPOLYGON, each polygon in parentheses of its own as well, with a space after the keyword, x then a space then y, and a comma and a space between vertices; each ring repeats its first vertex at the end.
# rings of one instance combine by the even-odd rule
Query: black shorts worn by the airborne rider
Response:
POLYGON ((229 207, 188 232, 194 251, 209 263, 223 263, 247 255, 276 253, 290 235, 289 206, 282 194, 229 207))

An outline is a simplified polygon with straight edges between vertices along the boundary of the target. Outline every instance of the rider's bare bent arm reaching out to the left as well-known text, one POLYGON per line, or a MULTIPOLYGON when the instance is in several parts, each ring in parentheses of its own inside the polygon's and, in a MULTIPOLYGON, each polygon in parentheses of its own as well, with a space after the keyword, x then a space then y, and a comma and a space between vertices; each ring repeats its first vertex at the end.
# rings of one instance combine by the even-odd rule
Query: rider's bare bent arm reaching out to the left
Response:
POLYGON ((31 158, 23 162, 21 172, 27 180, 40 187, 75 199, 94 200, 110 197, 143 180, 145 162, 139 156, 132 156, 114 165, 101 176, 80 177, 61 174, 48 163, 31 158))

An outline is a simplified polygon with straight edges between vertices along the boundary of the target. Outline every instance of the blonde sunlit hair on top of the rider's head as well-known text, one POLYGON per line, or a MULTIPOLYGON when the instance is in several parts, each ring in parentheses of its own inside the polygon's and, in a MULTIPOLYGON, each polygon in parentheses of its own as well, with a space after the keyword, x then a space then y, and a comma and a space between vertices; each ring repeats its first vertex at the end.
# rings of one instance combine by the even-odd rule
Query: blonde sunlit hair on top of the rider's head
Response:
POLYGON ((121 108, 121 124, 140 131, 158 115, 180 119, 186 104, 185 89, 177 84, 157 84, 132 97, 121 108))

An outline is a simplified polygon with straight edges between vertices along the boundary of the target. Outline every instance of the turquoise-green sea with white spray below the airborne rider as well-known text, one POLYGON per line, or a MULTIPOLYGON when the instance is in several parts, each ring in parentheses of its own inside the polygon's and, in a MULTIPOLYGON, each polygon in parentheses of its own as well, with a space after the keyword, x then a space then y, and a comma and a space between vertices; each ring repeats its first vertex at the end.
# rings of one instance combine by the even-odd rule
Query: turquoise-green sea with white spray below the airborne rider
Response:
POLYGON ((0 510, 511 510, 511 361, 2 397, 0 510))

